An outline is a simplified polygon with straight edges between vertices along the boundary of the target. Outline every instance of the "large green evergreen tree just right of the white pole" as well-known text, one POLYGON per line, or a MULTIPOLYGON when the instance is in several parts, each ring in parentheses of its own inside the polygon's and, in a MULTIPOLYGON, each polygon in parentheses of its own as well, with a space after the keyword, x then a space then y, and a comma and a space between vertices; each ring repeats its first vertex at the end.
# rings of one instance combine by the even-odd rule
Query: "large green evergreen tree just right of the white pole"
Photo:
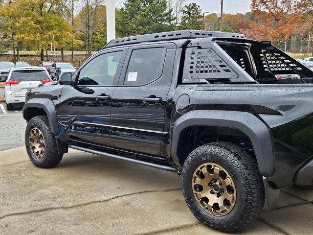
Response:
POLYGON ((170 31, 174 20, 166 0, 126 0, 116 19, 116 31, 121 37, 170 31))

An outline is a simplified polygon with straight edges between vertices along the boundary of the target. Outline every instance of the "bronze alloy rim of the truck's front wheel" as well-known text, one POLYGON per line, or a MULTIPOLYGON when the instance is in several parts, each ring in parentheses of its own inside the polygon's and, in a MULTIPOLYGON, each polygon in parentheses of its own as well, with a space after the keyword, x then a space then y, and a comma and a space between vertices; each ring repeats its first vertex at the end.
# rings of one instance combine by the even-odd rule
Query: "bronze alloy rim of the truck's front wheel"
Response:
POLYGON ((45 138, 39 128, 33 128, 29 133, 29 145, 36 158, 42 159, 45 155, 45 138))

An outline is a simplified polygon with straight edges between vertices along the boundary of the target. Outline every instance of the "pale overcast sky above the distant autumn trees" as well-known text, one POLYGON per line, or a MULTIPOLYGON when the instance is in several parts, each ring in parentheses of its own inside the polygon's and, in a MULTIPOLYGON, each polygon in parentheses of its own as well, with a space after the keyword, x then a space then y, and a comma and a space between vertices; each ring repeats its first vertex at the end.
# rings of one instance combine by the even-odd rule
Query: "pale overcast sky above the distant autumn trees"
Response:
MULTIPOLYGON (((200 5, 202 12, 221 11, 220 0, 187 0, 187 3, 196 2, 200 5)), ((251 0, 224 0, 224 13, 245 13, 250 11, 251 0)))

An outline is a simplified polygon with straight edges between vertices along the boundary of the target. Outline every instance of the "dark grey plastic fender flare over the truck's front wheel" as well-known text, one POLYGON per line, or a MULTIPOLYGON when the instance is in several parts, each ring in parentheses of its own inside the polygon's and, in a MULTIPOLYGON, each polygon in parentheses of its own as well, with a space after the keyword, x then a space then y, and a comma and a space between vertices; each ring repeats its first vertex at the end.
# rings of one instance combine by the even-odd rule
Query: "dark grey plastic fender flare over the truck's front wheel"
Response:
POLYGON ((47 117, 49 120, 51 132, 54 135, 59 134, 57 113, 56 113, 55 106, 52 100, 47 99, 47 98, 34 98, 34 99, 28 100, 22 108, 23 118, 27 121, 29 121, 28 111, 31 108, 39 108, 39 109, 45 110, 45 113, 47 114, 47 117))

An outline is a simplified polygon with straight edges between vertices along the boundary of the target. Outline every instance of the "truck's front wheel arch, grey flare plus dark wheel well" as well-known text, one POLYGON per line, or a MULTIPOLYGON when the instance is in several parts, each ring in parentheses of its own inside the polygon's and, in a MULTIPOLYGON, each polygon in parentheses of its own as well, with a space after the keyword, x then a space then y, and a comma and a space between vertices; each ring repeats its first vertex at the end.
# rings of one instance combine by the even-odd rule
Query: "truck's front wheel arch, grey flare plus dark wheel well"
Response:
POLYGON ((29 121, 31 118, 46 115, 49 120, 51 132, 54 135, 59 134, 57 114, 55 106, 50 99, 34 98, 28 100, 22 108, 23 118, 29 121))

